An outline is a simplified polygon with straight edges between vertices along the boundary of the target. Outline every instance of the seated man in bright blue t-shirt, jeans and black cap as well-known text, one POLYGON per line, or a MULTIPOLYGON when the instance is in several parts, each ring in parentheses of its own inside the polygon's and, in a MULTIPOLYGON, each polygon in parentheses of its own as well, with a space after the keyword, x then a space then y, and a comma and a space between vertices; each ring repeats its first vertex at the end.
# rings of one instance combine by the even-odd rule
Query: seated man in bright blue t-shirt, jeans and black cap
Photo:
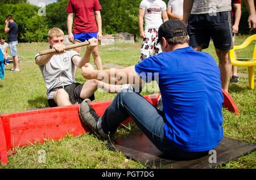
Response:
POLYGON ((122 89, 102 117, 86 102, 80 105, 80 117, 104 138, 131 117, 165 155, 179 160, 205 156, 223 137, 220 70, 210 54, 188 45, 189 36, 180 20, 164 22, 158 36, 163 53, 122 70, 96 71, 86 64, 82 75, 86 79, 109 77, 110 83, 117 82, 118 76, 127 82, 156 80, 163 107, 157 109, 139 93, 122 89))

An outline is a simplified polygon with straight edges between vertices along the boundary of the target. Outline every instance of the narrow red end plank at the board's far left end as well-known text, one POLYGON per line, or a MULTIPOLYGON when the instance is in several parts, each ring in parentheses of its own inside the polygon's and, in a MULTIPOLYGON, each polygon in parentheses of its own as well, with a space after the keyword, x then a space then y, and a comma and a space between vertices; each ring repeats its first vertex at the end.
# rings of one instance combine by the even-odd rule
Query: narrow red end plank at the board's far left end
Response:
POLYGON ((7 164, 7 148, 6 148, 6 139, 5 139, 5 130, 3 130, 2 118, 0 115, 0 158, 1 164, 7 164))

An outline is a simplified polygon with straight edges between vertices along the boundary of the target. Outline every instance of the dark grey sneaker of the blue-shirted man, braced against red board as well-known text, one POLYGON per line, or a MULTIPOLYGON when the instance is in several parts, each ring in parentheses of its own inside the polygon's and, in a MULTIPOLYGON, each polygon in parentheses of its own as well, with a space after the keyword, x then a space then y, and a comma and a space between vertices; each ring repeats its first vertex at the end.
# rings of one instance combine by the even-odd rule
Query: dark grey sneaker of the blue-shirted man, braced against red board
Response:
POLYGON ((98 114, 95 112, 95 110, 90 106, 86 100, 82 101, 81 105, 79 106, 79 115, 82 119, 82 122, 85 123, 85 125, 89 126, 93 132, 101 136, 100 132, 98 132, 97 128, 97 122, 100 118, 98 114))

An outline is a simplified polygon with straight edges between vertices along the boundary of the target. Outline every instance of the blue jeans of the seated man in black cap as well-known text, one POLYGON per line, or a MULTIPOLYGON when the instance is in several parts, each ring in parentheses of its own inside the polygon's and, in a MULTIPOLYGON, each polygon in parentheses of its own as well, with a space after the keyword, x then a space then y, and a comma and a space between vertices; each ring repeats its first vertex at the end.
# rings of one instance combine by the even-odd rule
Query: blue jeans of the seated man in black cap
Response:
POLYGON ((114 134, 119 125, 129 117, 156 148, 175 160, 190 160, 208 154, 208 151, 187 152, 176 148, 164 133, 166 118, 163 111, 130 89, 122 89, 105 110, 101 117, 102 130, 106 134, 114 134))

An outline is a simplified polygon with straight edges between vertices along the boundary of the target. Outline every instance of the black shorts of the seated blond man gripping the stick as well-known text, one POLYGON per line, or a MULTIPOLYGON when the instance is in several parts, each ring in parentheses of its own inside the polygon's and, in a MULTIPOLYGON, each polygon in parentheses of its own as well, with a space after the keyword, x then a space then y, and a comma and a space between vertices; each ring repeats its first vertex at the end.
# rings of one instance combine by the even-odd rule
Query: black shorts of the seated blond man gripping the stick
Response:
MULTIPOLYGON (((69 101, 71 101, 72 104, 81 104, 81 102, 84 100, 83 98, 80 97, 80 93, 83 85, 84 83, 83 84, 73 83, 73 84, 64 86, 65 91, 68 93, 69 101)), ((51 89, 50 91, 57 91, 58 89, 62 89, 62 88, 63 87, 57 87, 57 88, 51 89)), ((91 101, 93 101, 95 99, 94 94, 88 98, 91 101)), ((53 99, 49 99, 48 104, 51 108, 57 106, 57 104, 53 99)))

